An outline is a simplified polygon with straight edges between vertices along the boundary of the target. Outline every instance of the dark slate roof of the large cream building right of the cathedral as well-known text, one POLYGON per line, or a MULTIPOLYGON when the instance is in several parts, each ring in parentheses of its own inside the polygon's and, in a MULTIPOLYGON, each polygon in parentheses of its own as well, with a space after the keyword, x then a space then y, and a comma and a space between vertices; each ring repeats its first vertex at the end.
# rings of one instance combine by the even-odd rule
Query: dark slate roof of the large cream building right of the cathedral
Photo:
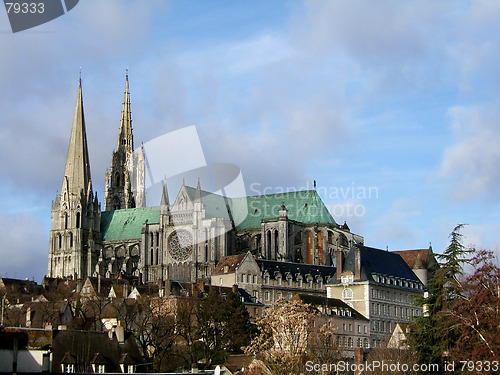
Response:
MULTIPOLYGON (((375 274, 381 276, 392 276, 421 283, 403 258, 395 252, 375 249, 363 245, 354 245, 344 259, 343 271, 351 271, 354 274, 354 254, 359 248, 361 256, 361 280, 375 281, 375 274)), ((340 280, 330 280, 331 284, 338 284, 340 280)))

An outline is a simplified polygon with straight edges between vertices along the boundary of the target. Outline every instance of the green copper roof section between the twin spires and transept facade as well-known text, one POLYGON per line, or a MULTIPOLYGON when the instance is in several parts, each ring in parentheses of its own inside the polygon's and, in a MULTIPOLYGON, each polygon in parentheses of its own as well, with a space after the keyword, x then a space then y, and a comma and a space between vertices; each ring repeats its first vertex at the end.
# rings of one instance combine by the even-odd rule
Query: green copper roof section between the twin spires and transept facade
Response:
POLYGON ((101 212, 101 233, 105 241, 141 238, 142 225, 160 222, 159 207, 128 208, 101 212))

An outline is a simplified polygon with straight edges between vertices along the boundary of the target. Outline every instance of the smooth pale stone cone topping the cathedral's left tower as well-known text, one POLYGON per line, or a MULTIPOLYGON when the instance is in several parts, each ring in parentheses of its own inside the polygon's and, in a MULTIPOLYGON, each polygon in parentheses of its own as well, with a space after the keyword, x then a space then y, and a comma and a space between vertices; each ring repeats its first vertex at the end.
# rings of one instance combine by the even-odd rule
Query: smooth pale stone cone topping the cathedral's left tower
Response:
MULTIPOLYGON (((78 94, 76 97, 75 114, 66 157, 66 168, 61 189, 64 193, 73 197, 80 197, 80 193, 86 194, 90 181, 89 152, 87 149, 87 133, 85 131, 85 116, 83 113, 82 79, 78 81, 78 94)), ((69 199, 70 196, 67 198, 69 199)), ((92 195, 90 196, 92 199, 92 195)))

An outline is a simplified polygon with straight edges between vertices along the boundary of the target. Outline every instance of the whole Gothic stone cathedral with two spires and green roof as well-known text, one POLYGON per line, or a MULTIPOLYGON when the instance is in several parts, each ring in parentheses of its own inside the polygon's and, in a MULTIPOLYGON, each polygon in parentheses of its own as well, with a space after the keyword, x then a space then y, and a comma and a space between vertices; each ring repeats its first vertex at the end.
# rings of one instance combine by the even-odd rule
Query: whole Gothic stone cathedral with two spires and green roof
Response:
POLYGON ((250 251, 257 259, 333 265, 336 252, 363 243, 335 222, 316 190, 227 198, 198 181, 196 188, 183 183, 171 201, 165 182, 161 201, 147 207, 139 150, 127 75, 102 211, 92 188, 80 80, 62 187, 52 202, 47 276, 209 281, 226 255, 250 251))

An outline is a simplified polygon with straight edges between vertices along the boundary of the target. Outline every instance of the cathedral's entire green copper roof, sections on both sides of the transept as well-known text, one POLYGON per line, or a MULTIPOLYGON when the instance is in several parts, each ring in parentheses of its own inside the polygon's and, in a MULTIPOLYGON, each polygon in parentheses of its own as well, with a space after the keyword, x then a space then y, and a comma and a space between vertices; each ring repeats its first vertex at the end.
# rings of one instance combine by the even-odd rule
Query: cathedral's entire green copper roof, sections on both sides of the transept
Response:
MULTIPOLYGON (((196 189, 186 190, 194 201, 196 189)), ((281 205, 288 210, 288 219, 304 224, 336 224, 332 215, 315 190, 265 194, 242 198, 225 198, 201 190, 205 217, 233 219, 237 229, 258 228, 262 220, 275 220, 281 205)), ((142 225, 160 222, 160 207, 129 208, 101 212, 103 240, 141 238, 142 225)))

